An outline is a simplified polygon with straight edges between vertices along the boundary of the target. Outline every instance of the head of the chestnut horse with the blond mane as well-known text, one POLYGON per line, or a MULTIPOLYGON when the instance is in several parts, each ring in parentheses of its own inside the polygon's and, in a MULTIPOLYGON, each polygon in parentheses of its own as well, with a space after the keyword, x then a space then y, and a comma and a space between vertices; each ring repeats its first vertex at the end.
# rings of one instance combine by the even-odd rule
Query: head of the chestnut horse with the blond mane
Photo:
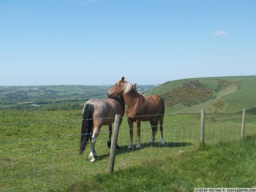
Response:
POLYGON ((109 89, 107 96, 108 98, 116 97, 117 95, 122 95, 130 92, 133 88, 135 88, 136 84, 132 85, 130 82, 125 80, 125 77, 119 79, 116 84, 109 89))

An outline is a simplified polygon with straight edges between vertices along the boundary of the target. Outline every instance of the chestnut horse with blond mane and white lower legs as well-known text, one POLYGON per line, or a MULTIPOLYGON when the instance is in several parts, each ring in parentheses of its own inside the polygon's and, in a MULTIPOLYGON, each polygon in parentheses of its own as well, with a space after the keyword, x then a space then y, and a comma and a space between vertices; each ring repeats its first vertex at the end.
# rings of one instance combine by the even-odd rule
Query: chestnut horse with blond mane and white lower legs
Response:
POLYGON ((164 145, 163 138, 163 119, 164 119, 164 100, 158 95, 149 95, 145 97, 137 92, 136 84, 132 85, 126 81, 124 77, 108 91, 108 98, 123 95, 126 104, 126 115, 130 128, 130 143, 128 149, 133 148, 133 122, 137 126, 138 143, 136 148, 140 149, 140 122, 149 121, 152 129, 152 137, 149 143, 155 141, 155 134, 160 123, 161 141, 160 145, 164 145))

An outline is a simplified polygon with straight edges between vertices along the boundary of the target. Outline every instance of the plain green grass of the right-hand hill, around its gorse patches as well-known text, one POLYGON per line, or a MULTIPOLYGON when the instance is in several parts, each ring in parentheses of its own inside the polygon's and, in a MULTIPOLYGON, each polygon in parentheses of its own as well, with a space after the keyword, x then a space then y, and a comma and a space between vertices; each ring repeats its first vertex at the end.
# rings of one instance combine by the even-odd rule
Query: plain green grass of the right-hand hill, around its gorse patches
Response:
POLYGON ((163 85, 151 90, 146 94, 157 94, 161 95, 169 90, 172 90, 176 87, 182 86, 184 82, 188 82, 190 80, 199 80, 201 83, 211 87, 213 90, 218 86, 218 80, 224 79, 227 81, 236 81, 240 89, 236 89, 234 85, 231 85, 219 92, 216 93, 216 99, 209 100, 205 103, 201 103, 196 106, 187 107, 182 104, 176 104, 169 108, 166 106, 167 113, 173 112, 195 112, 200 111, 201 109, 208 110, 212 108, 212 104, 217 101, 224 100, 224 105, 221 112, 236 112, 241 111, 243 109, 249 109, 252 107, 256 107, 256 76, 229 76, 229 77, 203 77, 203 78, 192 78, 192 79, 181 79, 175 81, 169 81, 164 83, 163 85))

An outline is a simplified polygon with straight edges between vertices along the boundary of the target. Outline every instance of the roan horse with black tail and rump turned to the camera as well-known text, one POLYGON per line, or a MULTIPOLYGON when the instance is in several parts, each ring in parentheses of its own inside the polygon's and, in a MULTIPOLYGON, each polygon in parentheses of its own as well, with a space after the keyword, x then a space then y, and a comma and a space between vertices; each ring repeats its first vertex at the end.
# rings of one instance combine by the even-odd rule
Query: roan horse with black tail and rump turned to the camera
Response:
MULTIPOLYGON (((88 156, 91 162, 95 161, 95 142, 96 138, 100 133, 100 128, 102 125, 108 125, 108 148, 111 146, 111 134, 112 134, 112 124, 115 121, 115 116, 124 116, 124 98, 123 96, 113 97, 113 99, 106 98, 102 99, 90 99, 84 105, 83 109, 83 122, 81 129, 81 142, 79 153, 82 154, 85 147, 91 140, 91 152, 88 156), (94 130, 92 132, 92 128, 94 130)), ((121 118, 122 122, 122 118, 121 118)), ((116 148, 119 148, 118 145, 116 148)))

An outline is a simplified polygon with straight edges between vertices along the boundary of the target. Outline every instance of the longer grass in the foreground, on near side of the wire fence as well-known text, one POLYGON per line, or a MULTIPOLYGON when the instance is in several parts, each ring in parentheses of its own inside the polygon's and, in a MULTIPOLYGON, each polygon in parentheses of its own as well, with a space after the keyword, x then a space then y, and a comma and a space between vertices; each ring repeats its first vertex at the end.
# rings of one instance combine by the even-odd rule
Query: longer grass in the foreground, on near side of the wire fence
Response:
POLYGON ((254 135, 150 159, 114 174, 88 176, 66 190, 185 192, 194 188, 255 188, 255 140, 254 135))

